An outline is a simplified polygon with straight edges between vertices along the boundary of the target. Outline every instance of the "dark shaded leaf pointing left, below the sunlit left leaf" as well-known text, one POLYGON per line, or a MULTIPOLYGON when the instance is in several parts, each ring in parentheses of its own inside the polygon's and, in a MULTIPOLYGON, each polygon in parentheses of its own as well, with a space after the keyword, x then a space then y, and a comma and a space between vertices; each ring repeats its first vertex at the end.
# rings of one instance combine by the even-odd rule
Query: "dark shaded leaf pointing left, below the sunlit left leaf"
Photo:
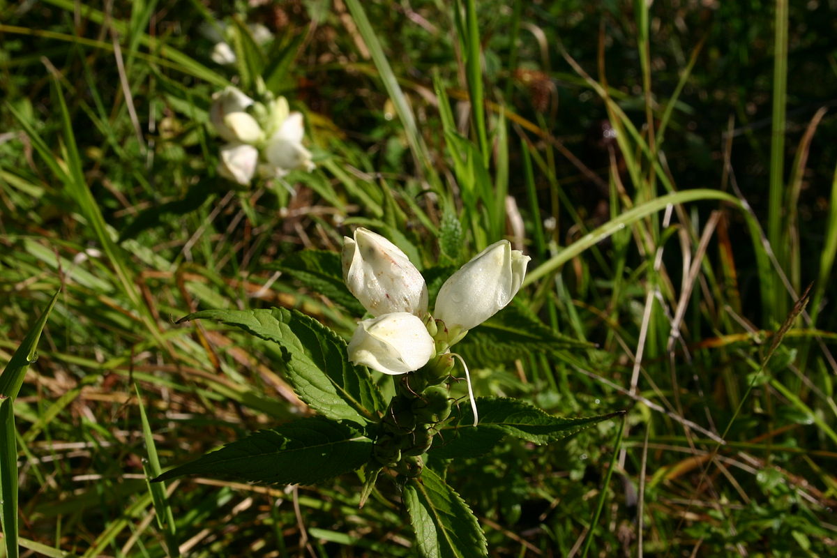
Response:
POLYGON ((154 481, 204 474, 255 483, 314 484, 360 468, 371 455, 372 440, 354 428, 308 417, 228 443, 154 481))

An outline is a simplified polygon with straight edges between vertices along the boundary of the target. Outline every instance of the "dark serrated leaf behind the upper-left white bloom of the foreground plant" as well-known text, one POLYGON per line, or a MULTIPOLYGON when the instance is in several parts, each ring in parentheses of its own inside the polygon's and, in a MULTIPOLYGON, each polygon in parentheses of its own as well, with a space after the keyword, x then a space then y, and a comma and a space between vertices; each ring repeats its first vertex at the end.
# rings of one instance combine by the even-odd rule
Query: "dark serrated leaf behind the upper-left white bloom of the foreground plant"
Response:
POLYGON ((290 275, 312 291, 325 295, 354 315, 363 315, 366 312, 343 281, 339 253, 304 250, 271 264, 269 268, 279 269, 282 273, 290 275))

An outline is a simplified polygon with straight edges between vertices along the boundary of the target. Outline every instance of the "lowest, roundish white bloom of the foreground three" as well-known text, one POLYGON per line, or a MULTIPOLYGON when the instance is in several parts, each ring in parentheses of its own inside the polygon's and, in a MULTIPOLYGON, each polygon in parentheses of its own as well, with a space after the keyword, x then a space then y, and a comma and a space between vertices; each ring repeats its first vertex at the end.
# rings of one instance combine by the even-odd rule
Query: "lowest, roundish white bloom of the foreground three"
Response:
POLYGON ((363 320, 348 346, 353 363, 393 375, 419 370, 435 352, 424 322, 407 312, 363 320))

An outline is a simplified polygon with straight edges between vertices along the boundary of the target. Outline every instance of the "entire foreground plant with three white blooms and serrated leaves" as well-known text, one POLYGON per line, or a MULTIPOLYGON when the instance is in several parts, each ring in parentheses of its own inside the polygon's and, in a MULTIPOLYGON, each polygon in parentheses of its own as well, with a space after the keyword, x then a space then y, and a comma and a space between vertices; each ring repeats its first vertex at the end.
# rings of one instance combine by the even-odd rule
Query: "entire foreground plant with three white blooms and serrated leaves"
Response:
POLYGON ((344 238, 340 255, 312 252, 307 261, 316 262, 318 284, 331 285, 335 300, 353 295, 371 316, 359 321, 348 343, 285 308, 204 310, 181 321, 220 320, 277 344, 287 380, 317 416, 253 433, 156 480, 209 474, 315 484, 360 470, 358 504, 379 479, 393 479, 422 554, 488 555, 479 521, 444 480, 450 461, 490 453, 506 437, 550 443, 613 416, 552 417, 519 399, 474 397, 455 345, 471 330, 479 335, 480 324, 510 304, 529 257, 506 240, 491 244, 450 275, 432 312, 419 269, 395 244, 365 228, 344 238), (457 364, 468 404, 451 394, 451 384, 460 380, 457 364), (379 384, 388 377, 394 395, 385 401, 379 384))

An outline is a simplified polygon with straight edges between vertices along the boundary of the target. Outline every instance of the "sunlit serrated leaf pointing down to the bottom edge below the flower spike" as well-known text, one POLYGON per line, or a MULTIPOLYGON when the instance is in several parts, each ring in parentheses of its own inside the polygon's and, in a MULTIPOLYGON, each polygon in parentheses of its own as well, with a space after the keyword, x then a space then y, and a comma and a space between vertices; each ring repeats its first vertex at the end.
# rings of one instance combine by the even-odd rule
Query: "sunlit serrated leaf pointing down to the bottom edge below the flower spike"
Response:
POLYGON ((488 555, 485 535, 468 504, 425 468, 404 486, 404 504, 416 544, 425 558, 482 558, 488 555))

